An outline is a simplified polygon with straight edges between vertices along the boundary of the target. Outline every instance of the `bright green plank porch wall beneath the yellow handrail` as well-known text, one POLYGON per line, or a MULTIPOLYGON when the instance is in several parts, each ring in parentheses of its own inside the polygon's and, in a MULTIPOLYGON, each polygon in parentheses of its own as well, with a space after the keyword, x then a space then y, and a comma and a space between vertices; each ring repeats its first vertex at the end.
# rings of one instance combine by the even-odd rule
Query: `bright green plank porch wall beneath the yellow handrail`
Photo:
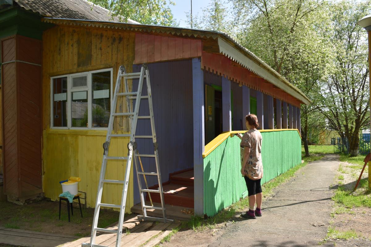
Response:
MULTIPOLYGON (((262 132, 262 183, 301 163, 301 138, 296 130, 262 132)), ((228 137, 204 158, 204 214, 213 216, 247 196, 241 176, 240 139, 228 137)))

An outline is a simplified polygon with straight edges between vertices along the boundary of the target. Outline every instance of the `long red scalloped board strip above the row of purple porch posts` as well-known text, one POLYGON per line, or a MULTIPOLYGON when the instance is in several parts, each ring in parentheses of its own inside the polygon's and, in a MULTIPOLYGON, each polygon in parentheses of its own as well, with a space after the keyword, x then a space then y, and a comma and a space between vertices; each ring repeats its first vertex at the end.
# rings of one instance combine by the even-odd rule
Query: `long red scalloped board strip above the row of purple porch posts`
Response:
POLYGON ((212 71, 219 76, 227 77, 241 85, 248 86, 252 89, 261 91, 276 99, 285 101, 293 106, 300 108, 300 101, 292 97, 290 94, 267 82, 262 77, 259 77, 252 71, 234 63, 226 56, 219 54, 202 52, 201 66, 204 70, 212 71))

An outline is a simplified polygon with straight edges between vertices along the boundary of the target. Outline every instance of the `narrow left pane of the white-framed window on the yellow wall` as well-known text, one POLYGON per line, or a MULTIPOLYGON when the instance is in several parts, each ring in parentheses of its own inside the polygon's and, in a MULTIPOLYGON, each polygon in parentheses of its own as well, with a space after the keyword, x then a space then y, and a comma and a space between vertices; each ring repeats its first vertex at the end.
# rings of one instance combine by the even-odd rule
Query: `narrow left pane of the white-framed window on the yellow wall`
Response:
POLYGON ((67 77, 53 79, 53 127, 67 127, 67 77))

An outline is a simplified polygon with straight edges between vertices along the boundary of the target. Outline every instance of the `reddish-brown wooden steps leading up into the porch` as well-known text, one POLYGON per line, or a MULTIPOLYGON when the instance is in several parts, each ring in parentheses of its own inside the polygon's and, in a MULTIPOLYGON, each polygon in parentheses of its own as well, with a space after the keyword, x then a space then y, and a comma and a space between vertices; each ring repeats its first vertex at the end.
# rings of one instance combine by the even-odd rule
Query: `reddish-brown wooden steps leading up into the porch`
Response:
MULTIPOLYGON (((176 190, 176 194, 165 194, 164 200, 165 204, 170 204, 173 206, 180 207, 194 207, 194 176, 193 168, 177 171, 175 173, 169 174, 170 180, 162 183, 162 188, 164 191, 176 190)), ((158 184, 150 187, 150 189, 158 189, 158 184)), ((152 201, 154 203, 161 203, 160 195, 158 193, 151 193, 152 201)), ((146 196, 146 200, 149 201, 150 197, 146 196)))

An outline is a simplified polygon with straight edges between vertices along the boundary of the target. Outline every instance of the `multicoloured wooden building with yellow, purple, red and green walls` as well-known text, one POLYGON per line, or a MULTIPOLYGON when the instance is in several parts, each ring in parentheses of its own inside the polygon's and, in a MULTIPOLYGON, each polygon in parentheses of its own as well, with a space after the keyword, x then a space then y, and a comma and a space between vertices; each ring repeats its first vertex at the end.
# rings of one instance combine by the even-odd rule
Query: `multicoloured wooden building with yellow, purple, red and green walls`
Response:
MULTIPOLYGON (((4 192, 12 201, 40 193, 56 200, 58 182, 78 176, 83 203, 95 204, 121 65, 129 72, 143 63, 150 69, 162 181, 164 189, 179 191, 165 195, 165 203, 211 216, 246 196, 239 139, 230 133, 244 131, 250 112, 261 123, 264 182, 301 163, 300 105, 309 99, 226 34, 118 23, 104 14, 93 18, 89 11, 105 10, 91 10, 84 0, 79 8, 72 0, 48 4, 54 2, 53 13, 38 0, 16 0, 0 10, 0 27, 13 25, 0 31, 4 192), (30 32, 31 24, 37 30, 30 32)), ((119 102, 118 109, 125 108, 119 102)), ((139 122, 137 134, 151 134, 146 121, 139 122)), ((115 121, 115 133, 127 128, 126 119, 115 121)), ((137 142, 140 153, 153 151, 148 140, 137 142)), ((127 143, 124 137, 113 140, 110 155, 126 152, 127 143)), ((142 162, 147 170, 153 167, 142 162)), ((123 180, 125 165, 109 163, 106 176, 123 180)), ((130 206, 139 203, 132 174, 130 206)), ((152 178, 148 182, 157 186, 152 178)), ((106 186, 103 201, 118 204, 121 190, 106 186)))

